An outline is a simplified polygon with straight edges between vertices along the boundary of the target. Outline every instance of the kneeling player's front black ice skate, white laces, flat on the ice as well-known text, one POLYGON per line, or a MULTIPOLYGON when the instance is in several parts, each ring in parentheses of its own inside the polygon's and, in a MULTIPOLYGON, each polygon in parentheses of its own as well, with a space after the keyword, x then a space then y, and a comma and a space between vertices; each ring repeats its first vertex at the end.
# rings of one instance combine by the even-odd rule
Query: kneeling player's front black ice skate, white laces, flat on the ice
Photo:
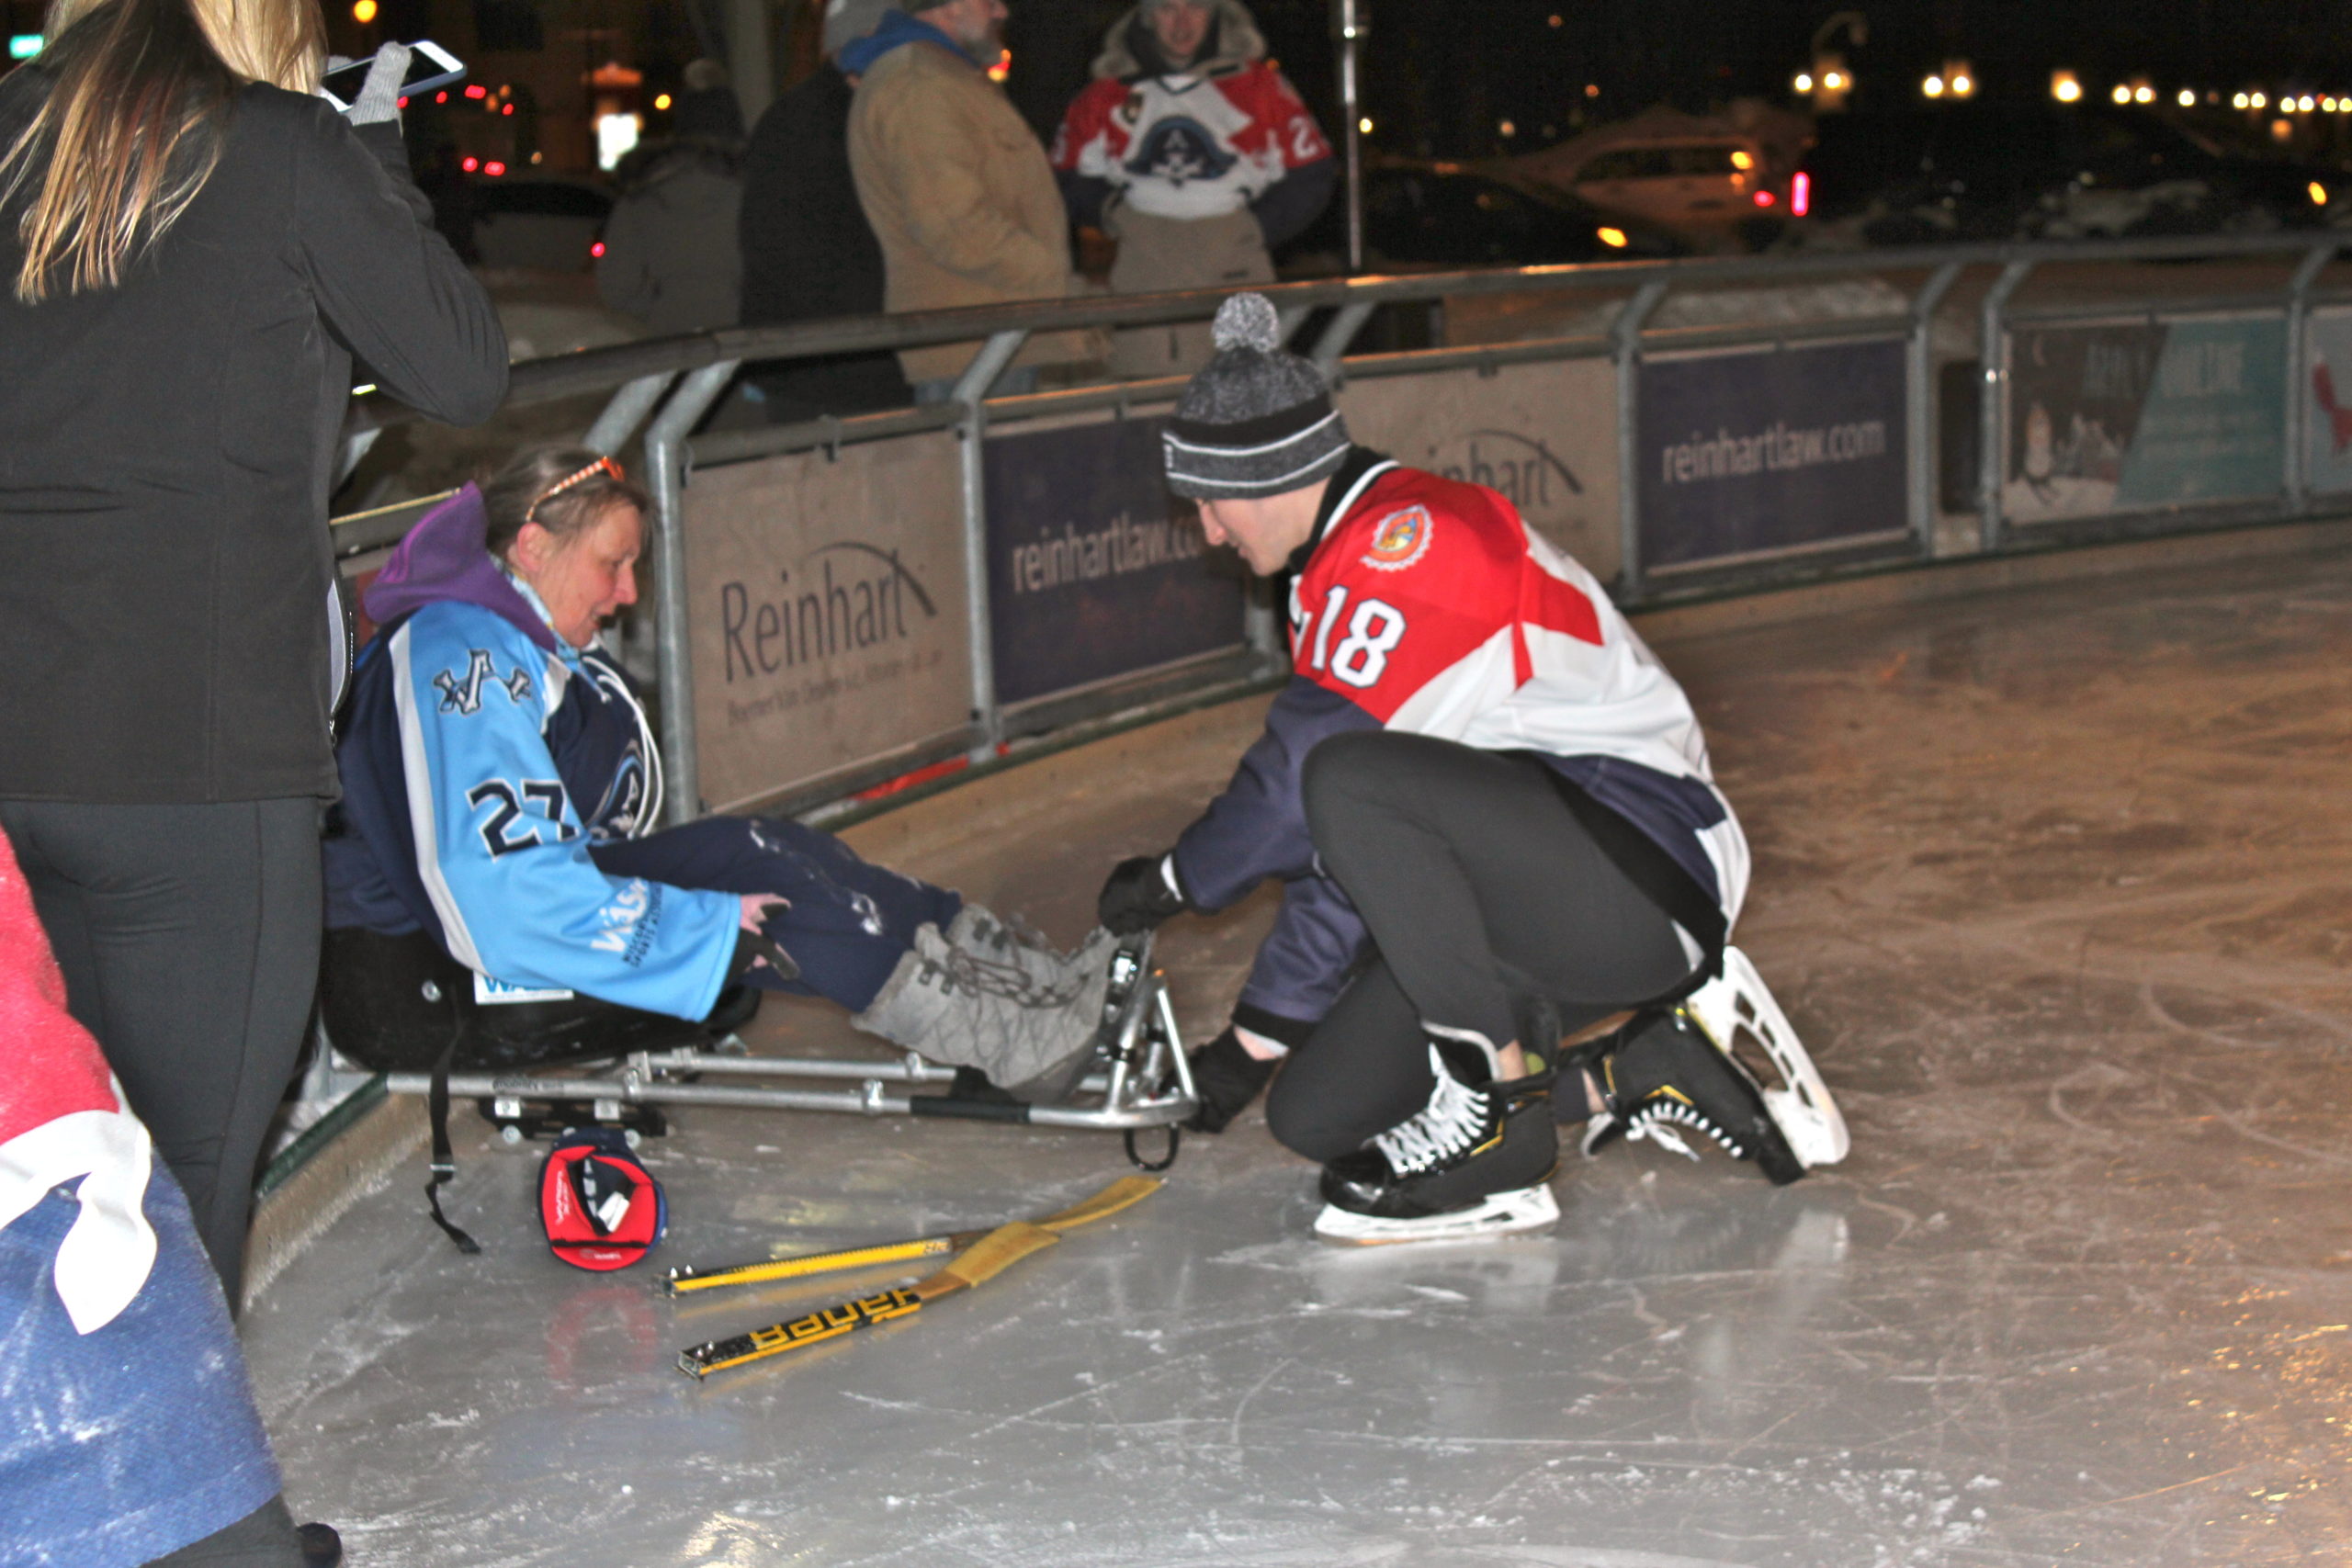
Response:
POLYGON ((1484 1053, 1458 1041, 1430 1044, 1430 1072, 1425 1107, 1324 1166, 1324 1241, 1501 1237, 1559 1218, 1545 1185, 1559 1164, 1552 1074, 1494 1081, 1484 1053))

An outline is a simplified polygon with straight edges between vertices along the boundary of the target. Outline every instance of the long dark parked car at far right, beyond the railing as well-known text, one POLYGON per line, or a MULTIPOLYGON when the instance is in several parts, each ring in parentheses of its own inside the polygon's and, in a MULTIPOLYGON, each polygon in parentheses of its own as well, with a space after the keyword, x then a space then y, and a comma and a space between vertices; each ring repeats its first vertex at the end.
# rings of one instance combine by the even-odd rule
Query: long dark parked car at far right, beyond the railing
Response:
POLYGON ((2317 226, 2331 183, 2145 110, 1950 103, 1825 115, 1790 209, 1870 244, 2216 233, 2317 226))

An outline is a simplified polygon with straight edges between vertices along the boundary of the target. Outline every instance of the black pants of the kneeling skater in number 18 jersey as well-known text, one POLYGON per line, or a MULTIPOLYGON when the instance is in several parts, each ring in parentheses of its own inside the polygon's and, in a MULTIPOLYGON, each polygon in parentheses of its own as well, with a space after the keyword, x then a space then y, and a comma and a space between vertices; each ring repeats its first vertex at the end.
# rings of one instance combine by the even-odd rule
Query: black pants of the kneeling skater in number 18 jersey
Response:
POLYGON ((1359 731, 1317 745, 1303 788, 1315 851, 1376 947, 1265 1103, 1308 1159, 1428 1105, 1430 1034, 1505 1046, 1538 1001, 1573 1032, 1691 973, 1675 924, 1534 757, 1359 731))

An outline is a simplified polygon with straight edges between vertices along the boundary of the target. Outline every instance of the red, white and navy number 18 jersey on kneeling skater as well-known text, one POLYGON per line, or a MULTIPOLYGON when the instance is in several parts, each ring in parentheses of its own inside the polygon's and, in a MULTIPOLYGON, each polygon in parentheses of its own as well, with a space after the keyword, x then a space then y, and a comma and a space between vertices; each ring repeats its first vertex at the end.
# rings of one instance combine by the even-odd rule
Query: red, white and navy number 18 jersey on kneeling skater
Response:
POLYGON ((1174 851, 1204 910, 1287 882, 1242 990, 1244 1023, 1279 1032, 1322 1018, 1364 943, 1345 893, 1317 872, 1301 795, 1308 752, 1350 729, 1541 755, 1738 919, 1748 839, 1698 719, 1592 574, 1482 484, 1355 451, 1329 494, 1291 562, 1291 682, 1174 851))

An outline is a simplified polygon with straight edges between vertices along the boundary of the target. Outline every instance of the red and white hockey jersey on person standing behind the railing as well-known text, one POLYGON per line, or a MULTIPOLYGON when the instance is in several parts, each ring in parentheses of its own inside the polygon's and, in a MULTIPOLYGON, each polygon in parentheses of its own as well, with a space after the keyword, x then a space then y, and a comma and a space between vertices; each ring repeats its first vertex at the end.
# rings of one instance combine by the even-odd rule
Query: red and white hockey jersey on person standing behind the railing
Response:
POLYGON ((1054 136, 1054 169, 1136 212, 1216 219, 1331 158, 1315 115, 1265 61, 1089 82, 1054 136))

